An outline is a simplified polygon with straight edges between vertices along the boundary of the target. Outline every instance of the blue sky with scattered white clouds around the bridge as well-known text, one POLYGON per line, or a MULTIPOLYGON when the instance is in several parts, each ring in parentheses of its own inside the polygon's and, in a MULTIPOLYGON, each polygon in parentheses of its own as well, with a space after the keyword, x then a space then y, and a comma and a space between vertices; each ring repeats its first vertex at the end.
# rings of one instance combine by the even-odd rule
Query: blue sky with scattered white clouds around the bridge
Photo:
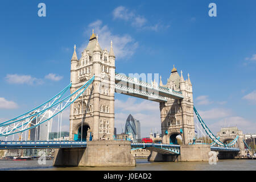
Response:
MULTIPOLYGON (((213 133, 224 126, 256 133, 255 7, 253 0, 1 1, 0 122, 65 88, 74 44, 80 59, 94 29, 101 48, 113 40, 116 72, 159 73, 166 84, 175 65, 185 79, 189 73, 194 105, 213 133), (210 3, 217 16, 209 16, 210 3)), ((115 93, 117 133, 129 114, 142 137, 160 132, 158 102, 115 93)))

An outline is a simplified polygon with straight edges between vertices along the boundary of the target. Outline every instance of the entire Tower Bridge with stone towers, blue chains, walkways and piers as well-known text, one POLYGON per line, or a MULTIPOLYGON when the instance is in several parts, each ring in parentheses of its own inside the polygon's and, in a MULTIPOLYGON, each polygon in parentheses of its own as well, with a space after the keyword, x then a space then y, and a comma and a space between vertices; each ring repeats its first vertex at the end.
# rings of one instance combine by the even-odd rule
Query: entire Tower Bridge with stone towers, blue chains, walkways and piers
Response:
POLYGON ((134 166, 135 159, 130 150, 136 148, 151 150, 148 158, 151 161, 208 161, 210 150, 239 154, 240 148, 244 146, 235 146, 238 137, 225 143, 207 127, 193 105, 189 74, 185 80, 183 72, 180 73, 179 75, 175 67, 172 68, 165 85, 162 77, 158 84, 116 73, 113 43, 110 43, 110 51, 102 50, 98 36, 93 32, 80 59, 77 58, 76 46, 74 47, 71 84, 35 109, 0 123, 0 137, 6 137, 7 140, 8 136, 13 136, 14 139, 14 135, 20 134, 25 139, 1 142, 0 149, 59 148, 55 165, 76 166, 134 166), (70 94, 65 96, 67 90, 70 90, 70 94), (114 93, 159 102, 162 143, 114 140, 114 93), (53 117, 58 117, 58 130, 59 126, 61 130, 61 116, 67 107, 70 107, 70 141, 26 141, 27 131, 38 128, 42 123, 49 123, 53 117), (51 114, 46 114, 49 111, 51 114), (201 126, 200 130, 205 133, 205 140, 208 138, 208 144, 195 143, 198 136, 195 133, 194 112, 199 120, 197 130, 201 126), (180 145, 177 144, 177 135, 182 138, 180 145))

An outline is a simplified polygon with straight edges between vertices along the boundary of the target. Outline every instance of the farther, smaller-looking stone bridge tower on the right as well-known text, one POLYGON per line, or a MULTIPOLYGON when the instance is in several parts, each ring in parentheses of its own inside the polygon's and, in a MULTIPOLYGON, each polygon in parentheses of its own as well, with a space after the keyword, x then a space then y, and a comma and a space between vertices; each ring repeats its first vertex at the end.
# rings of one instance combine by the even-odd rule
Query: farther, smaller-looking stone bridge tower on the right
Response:
POLYGON ((160 103, 161 128, 163 143, 177 143, 177 135, 181 135, 182 144, 192 143, 195 137, 195 125, 193 121, 193 92, 189 78, 184 80, 174 67, 167 84, 163 85, 161 77, 159 86, 182 92, 183 100, 168 98, 167 102, 160 103))

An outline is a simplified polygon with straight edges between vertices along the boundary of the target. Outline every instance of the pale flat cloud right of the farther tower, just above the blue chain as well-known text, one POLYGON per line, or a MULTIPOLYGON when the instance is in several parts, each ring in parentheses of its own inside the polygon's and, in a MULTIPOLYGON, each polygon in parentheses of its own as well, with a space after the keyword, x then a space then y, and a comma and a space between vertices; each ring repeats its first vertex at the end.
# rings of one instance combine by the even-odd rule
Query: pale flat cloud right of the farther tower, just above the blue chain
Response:
POLYGON ((202 119, 217 119, 229 117, 232 112, 229 109, 214 108, 206 111, 198 111, 202 119))

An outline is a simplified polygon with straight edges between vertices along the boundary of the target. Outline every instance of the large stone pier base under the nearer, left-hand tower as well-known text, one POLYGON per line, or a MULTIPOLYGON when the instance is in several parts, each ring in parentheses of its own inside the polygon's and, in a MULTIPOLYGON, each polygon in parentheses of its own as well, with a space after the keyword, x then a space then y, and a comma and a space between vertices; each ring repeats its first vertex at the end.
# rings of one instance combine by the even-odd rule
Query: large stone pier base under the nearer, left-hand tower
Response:
POLYGON ((136 166, 130 141, 99 140, 85 148, 61 148, 55 151, 53 166, 136 166))

